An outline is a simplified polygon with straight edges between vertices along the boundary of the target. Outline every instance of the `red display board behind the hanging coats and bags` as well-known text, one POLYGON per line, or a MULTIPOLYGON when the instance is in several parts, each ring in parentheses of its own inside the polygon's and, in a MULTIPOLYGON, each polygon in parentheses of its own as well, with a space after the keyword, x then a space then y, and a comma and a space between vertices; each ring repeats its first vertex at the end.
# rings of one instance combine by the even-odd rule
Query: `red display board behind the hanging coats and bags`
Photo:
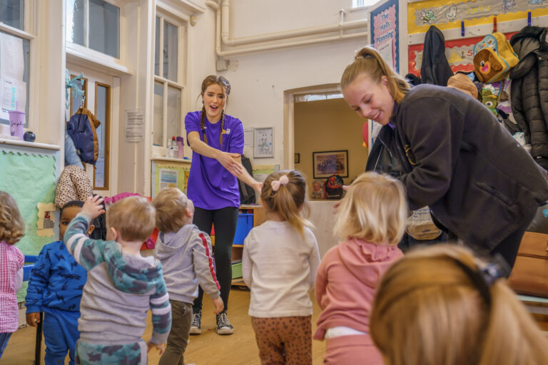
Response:
MULTIPOLYGON (((506 38, 511 38, 517 32, 504 34, 506 38)), ((452 41, 445 41, 445 56, 449 61, 449 66, 453 72, 474 71, 474 55, 472 51, 476 43, 484 37, 460 38, 452 41)), ((409 73, 415 76, 420 76, 420 66, 422 65, 422 50, 424 44, 412 44, 407 48, 407 63, 409 73)))

